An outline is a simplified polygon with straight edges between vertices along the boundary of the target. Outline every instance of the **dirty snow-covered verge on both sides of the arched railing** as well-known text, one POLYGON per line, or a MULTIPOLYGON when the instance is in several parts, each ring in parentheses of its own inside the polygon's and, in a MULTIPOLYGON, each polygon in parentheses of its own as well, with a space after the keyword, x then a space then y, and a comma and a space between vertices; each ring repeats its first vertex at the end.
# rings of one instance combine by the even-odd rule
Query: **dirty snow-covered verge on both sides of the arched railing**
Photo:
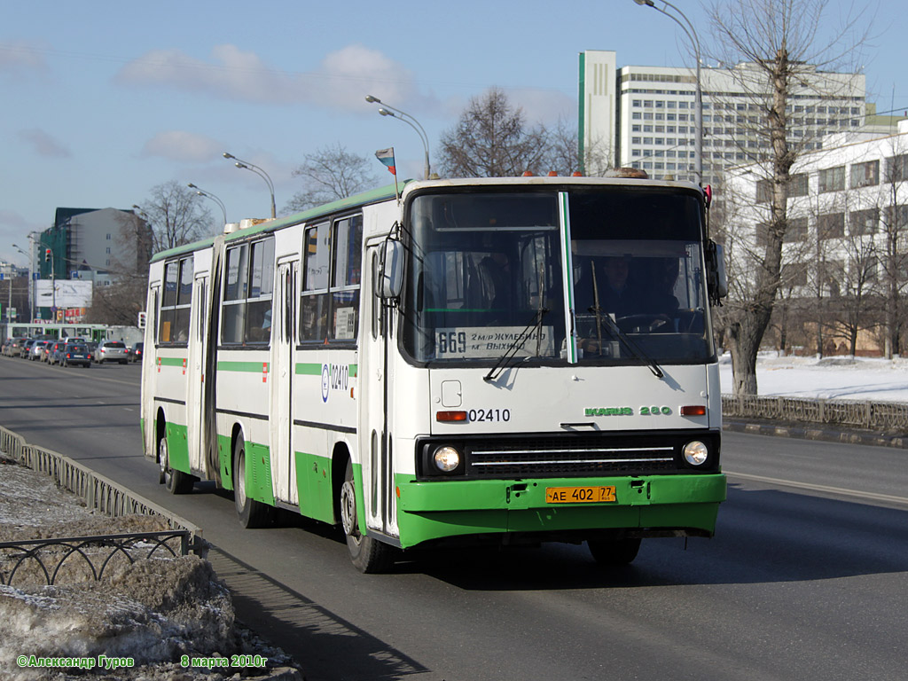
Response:
MULTIPOLYGON (((160 518, 108 518, 89 511, 52 479, 0 458, 0 541, 165 529, 160 518)), ((67 550, 42 549, 45 567, 52 571, 67 550)), ((97 569, 111 549, 86 548, 85 553, 97 569)), ((144 558, 147 551, 139 550, 133 552, 131 563, 115 554, 104 577, 95 581, 88 561, 72 554, 64 560, 54 586, 47 586, 35 560, 25 561, 10 580, 13 556, 0 549, 0 574, 4 582, 11 581, 11 586, 0 585, 4 681, 301 679, 280 648, 236 626, 230 593, 207 560, 165 558, 160 551, 155 553, 159 558, 144 558), (236 654, 247 659, 262 656, 267 665, 192 667, 193 657, 211 663, 236 654), (73 658, 84 668, 20 666, 22 656, 26 662, 32 657, 73 658), (103 668, 104 662, 116 658, 123 658, 123 665, 103 668), (92 664, 94 668, 88 666, 92 664)))

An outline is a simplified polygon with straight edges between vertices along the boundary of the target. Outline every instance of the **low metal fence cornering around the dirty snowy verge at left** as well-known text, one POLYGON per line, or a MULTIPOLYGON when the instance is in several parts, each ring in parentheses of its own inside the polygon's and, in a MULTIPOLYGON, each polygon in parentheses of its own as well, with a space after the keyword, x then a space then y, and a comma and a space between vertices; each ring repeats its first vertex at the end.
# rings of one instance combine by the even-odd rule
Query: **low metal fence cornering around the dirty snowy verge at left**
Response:
MULTIPOLYGON (((162 518, 170 528, 170 531, 151 534, 132 532, 94 537, 5 542, 2 548, 6 550, 7 555, 9 551, 13 551, 20 558, 37 558, 39 550, 56 547, 64 550, 63 560, 71 555, 85 558, 94 578, 100 579, 104 574, 104 567, 110 561, 110 556, 114 554, 125 556, 129 562, 133 562, 133 558, 127 554, 135 548, 144 549, 150 546, 149 555, 153 555, 155 551, 166 550, 172 555, 176 555, 176 551, 183 556, 192 552, 204 558, 207 553, 208 545, 202 538, 202 529, 198 526, 166 508, 158 506, 153 501, 135 494, 130 489, 124 488, 114 480, 95 473, 94 470, 74 459, 64 457, 51 449, 28 444, 22 436, 3 426, 0 426, 0 452, 30 469, 51 476, 60 487, 68 489, 82 498, 89 509, 97 510, 112 518, 128 515, 157 516, 162 518), (151 545, 149 545, 150 541, 151 545), (172 545, 176 548, 172 548, 172 545), (88 552, 84 548, 89 546, 105 546, 110 549, 103 554, 104 564, 100 568, 94 568, 92 561, 88 558, 88 552)), ((60 565, 58 564, 54 570, 50 570, 44 567, 46 561, 38 560, 37 562, 41 564, 41 571, 47 578, 47 583, 53 584, 60 565)))

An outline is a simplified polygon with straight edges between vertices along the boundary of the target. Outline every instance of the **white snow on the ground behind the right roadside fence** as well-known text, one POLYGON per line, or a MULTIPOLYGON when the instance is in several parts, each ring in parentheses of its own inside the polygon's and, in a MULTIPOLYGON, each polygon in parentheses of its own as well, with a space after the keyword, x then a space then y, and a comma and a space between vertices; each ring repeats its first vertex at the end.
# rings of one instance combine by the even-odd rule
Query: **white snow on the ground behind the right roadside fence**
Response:
MULTIPOLYGON (((723 393, 732 392, 732 360, 719 360, 723 393)), ((756 362, 757 393, 766 397, 908 402, 908 358, 779 357, 761 352, 756 362)))

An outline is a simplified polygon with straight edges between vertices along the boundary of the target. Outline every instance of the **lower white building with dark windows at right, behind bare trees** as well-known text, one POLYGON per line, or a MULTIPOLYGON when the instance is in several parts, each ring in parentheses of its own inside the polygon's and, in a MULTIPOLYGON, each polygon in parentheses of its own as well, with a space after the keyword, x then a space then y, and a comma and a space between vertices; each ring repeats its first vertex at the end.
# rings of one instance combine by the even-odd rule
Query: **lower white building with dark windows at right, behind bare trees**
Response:
MULTIPOLYGON (((791 174, 780 295, 880 294, 892 243, 897 266, 908 262, 908 121, 899 122, 896 133, 857 141, 830 135, 822 149, 804 153, 791 174)), ((765 243, 769 176, 759 164, 725 172, 726 251, 736 276, 757 266, 749 254, 765 243)))

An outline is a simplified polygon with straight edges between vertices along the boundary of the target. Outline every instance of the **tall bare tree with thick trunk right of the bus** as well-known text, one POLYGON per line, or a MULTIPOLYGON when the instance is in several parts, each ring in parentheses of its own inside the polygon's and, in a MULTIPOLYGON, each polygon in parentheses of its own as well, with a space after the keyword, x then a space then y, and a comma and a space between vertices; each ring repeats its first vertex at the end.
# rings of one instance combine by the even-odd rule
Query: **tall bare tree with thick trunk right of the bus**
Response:
MULTIPOLYGON (((756 354, 781 281, 791 171, 805 148, 793 142, 795 122, 787 107, 794 104, 796 92, 826 86, 830 81, 819 76, 820 70, 841 66, 844 56, 863 42, 854 39, 854 18, 846 19, 831 37, 818 38, 820 27, 828 23, 827 4, 827 0, 715 0, 710 9, 716 48, 712 56, 725 64, 746 64, 730 73, 746 100, 757 107, 753 123, 763 132, 754 153, 765 172, 769 198, 765 243, 742 272, 747 281, 737 287, 741 298, 729 301, 725 311, 735 394, 756 394, 756 354)), ((745 123, 750 123, 748 117, 745 123)), ((735 115, 735 124, 736 120, 735 115)))

